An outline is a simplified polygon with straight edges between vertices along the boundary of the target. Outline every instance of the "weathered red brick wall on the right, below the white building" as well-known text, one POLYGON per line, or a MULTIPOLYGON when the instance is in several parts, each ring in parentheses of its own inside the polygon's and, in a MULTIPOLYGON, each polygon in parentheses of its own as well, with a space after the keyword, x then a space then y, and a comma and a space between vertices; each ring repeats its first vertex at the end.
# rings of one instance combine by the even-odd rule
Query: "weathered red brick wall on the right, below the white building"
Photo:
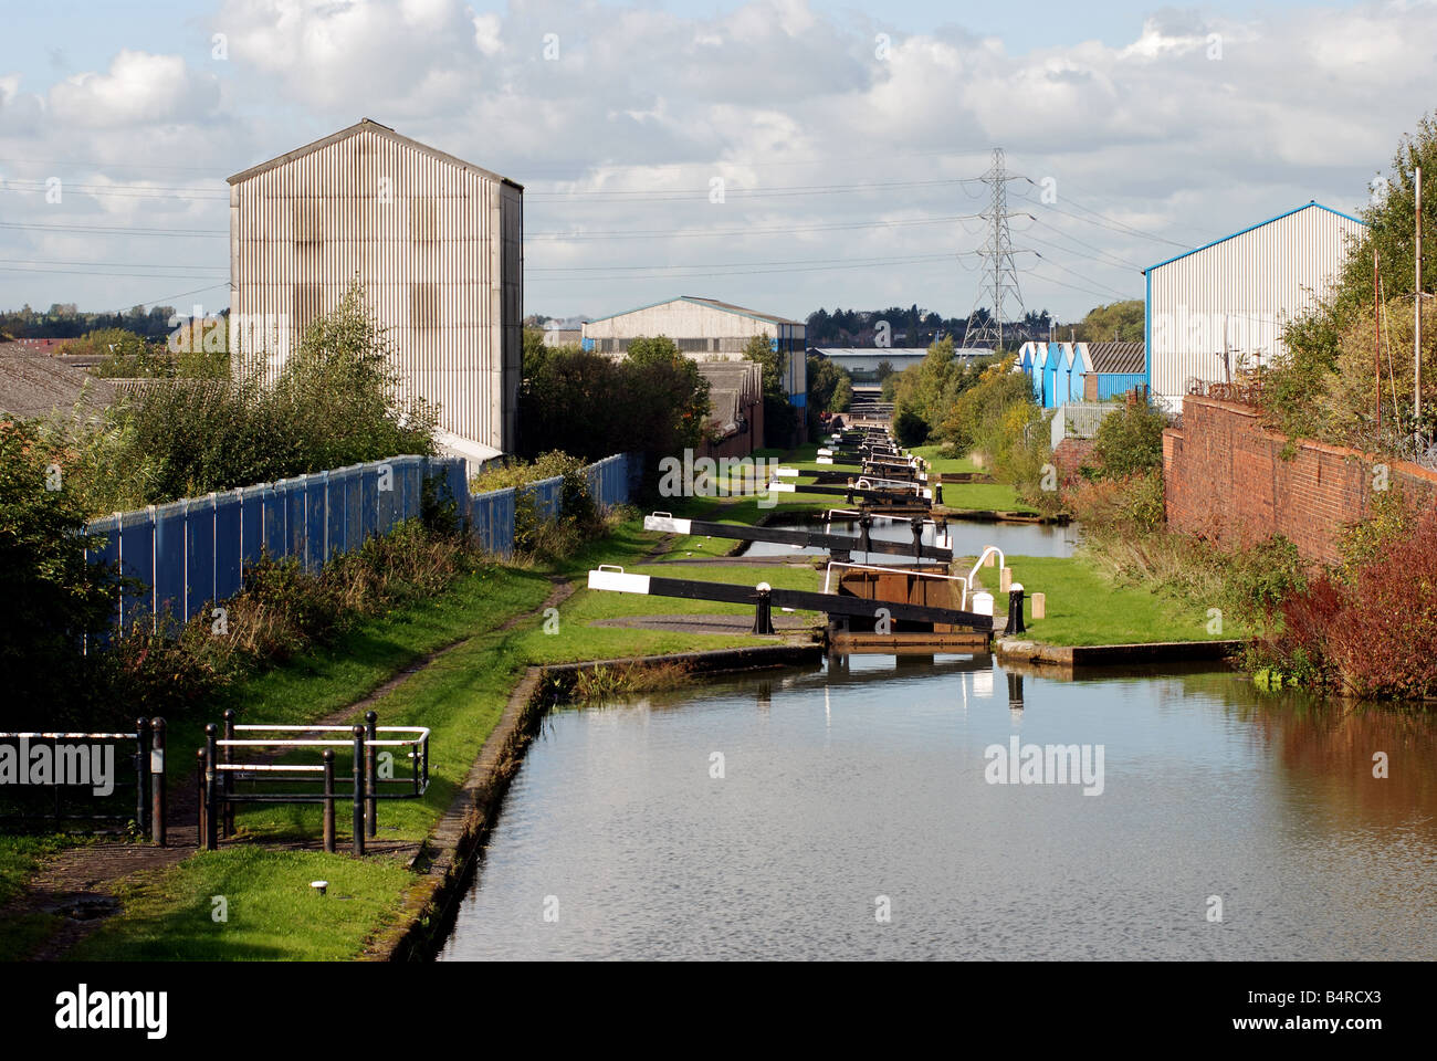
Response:
MULTIPOLYGON (((1163 433, 1168 526, 1227 548, 1280 533, 1308 559, 1341 559, 1338 532, 1371 512, 1378 461, 1306 440, 1283 460, 1286 444, 1250 405, 1186 397, 1183 427, 1163 433)), ((1410 502, 1437 500, 1437 474, 1403 461, 1387 469, 1388 487, 1410 502)))

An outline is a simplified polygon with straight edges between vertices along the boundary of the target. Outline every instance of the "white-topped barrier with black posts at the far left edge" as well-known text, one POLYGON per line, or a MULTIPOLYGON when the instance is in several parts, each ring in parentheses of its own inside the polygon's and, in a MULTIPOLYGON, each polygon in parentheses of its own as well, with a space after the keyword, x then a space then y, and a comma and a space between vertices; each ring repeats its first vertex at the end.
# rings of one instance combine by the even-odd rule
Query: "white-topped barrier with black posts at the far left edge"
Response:
MULTIPOLYGON (((34 730, 0 733, 0 743, 16 742, 14 759, 6 765, 6 758, 0 753, 0 801, 9 802, 10 792, 22 789, 49 788, 52 798, 45 812, 0 814, 0 821, 55 821, 56 827, 62 821, 134 821, 141 832, 148 832, 154 842, 165 844, 165 720, 161 717, 137 719, 132 733, 82 733, 59 730, 34 730), (134 740, 135 750, 129 755, 134 771, 135 802, 134 814, 79 814, 68 811, 62 801, 66 788, 89 786, 92 794, 98 779, 95 755, 103 752, 96 745, 108 745, 119 740, 134 740), (37 742, 39 748, 32 748, 37 742), (46 749, 46 743, 49 748, 46 749), (65 748, 60 745, 86 745, 85 748, 65 748), (34 752, 47 750, 49 758, 36 756, 34 752), (36 772, 43 773, 42 779, 32 778, 36 772), (73 772, 83 776, 75 778, 73 772)), ((105 756, 102 756, 103 762, 105 756)), ((109 765, 114 765, 111 752, 109 765)), ((108 773, 108 768, 105 768, 108 773)), ((108 784, 114 785, 114 778, 108 784)), ((128 784, 125 785, 129 786, 128 784)), ((112 795, 105 794, 105 796, 112 795)))

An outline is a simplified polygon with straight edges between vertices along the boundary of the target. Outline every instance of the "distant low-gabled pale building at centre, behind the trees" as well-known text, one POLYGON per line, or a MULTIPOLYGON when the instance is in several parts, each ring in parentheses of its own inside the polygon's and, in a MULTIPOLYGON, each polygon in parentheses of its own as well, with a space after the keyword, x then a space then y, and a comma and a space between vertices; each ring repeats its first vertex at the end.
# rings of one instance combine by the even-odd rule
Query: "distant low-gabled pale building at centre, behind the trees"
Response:
POLYGON ((760 313, 730 302, 681 295, 583 325, 583 348, 622 354, 631 339, 664 335, 696 361, 741 361, 744 345, 754 336, 769 339, 769 348, 783 354, 783 391, 802 408, 808 404, 808 326, 786 316, 760 313))

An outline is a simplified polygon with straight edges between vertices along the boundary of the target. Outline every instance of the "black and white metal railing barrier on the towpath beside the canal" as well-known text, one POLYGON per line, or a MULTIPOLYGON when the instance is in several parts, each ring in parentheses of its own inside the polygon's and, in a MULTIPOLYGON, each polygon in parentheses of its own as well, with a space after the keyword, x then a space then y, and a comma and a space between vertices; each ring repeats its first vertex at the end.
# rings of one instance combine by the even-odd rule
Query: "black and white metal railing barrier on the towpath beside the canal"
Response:
POLYGON ((354 808, 354 854, 364 855, 365 837, 378 830, 381 799, 420 799, 430 786, 430 730, 425 726, 379 726, 378 715, 365 713, 362 726, 237 726, 234 712, 224 713, 224 736, 213 722, 204 727, 204 748, 197 753, 195 786, 200 796, 198 841, 205 851, 220 845, 220 837, 234 832, 237 804, 323 804, 323 845, 335 851, 335 802, 348 796, 354 808), (236 736, 236 733, 345 733, 339 738, 299 736, 236 736), (411 735, 384 738, 384 733, 411 735), (236 762, 237 748, 319 749, 320 762, 236 762), (335 749, 354 750, 349 776, 335 776, 335 749), (411 775, 407 778, 379 776, 378 749, 407 748, 411 775), (295 785, 320 776, 318 792, 237 792, 237 781, 256 785, 279 782, 295 785), (348 784, 349 792, 336 792, 336 784, 348 784), (405 792, 385 792, 382 785, 404 785, 405 792))

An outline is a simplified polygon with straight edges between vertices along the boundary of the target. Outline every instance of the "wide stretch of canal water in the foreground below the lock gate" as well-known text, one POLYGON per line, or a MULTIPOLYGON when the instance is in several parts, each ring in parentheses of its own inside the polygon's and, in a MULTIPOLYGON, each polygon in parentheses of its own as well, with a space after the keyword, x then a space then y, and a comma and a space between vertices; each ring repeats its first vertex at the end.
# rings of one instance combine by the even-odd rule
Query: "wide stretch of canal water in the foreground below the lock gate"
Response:
POLYGON ((851 657, 558 710, 441 959, 1437 959, 1430 717, 1017 679, 851 657), (1002 784, 1015 739, 1092 769, 1002 784))

